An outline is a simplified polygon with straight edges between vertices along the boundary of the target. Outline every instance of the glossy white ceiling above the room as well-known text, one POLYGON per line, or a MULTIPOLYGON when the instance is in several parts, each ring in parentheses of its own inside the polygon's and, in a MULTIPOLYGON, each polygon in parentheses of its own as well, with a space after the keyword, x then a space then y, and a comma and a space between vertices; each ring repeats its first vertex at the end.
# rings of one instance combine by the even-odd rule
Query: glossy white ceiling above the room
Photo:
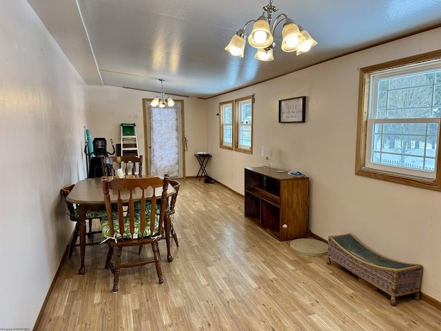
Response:
MULTIPOLYGON (((274 0, 318 45, 274 61, 224 50, 269 0, 28 0, 88 85, 208 98, 441 26, 441 0, 274 0), (80 14, 81 12, 81 14, 80 14)), ((247 27, 251 32, 252 24, 247 27)))

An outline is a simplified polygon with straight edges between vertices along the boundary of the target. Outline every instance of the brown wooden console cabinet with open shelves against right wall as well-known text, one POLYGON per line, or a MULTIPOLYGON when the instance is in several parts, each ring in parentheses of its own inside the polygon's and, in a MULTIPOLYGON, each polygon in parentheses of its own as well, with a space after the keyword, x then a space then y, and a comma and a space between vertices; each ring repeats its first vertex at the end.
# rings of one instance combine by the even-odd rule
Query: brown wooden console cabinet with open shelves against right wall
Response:
POLYGON ((245 168, 245 217, 280 241, 308 235, 309 178, 245 168))

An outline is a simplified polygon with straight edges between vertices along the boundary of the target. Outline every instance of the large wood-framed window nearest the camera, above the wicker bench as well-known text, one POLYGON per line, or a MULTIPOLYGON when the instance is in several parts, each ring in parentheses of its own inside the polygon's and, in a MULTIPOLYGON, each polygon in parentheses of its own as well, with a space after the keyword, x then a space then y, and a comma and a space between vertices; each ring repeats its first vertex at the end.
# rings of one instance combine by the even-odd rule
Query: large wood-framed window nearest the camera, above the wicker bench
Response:
POLYGON ((441 190, 441 51, 360 69, 356 174, 441 190))

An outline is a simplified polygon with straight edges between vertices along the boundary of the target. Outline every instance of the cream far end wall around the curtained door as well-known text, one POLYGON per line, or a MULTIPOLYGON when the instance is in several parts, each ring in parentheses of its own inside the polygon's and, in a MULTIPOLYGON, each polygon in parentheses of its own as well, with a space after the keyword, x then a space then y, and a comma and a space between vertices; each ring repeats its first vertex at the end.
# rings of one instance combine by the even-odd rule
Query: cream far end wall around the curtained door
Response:
MULTIPOLYGON (((113 139, 116 148, 116 143, 121 142, 121 123, 136 123, 139 154, 145 157, 143 99, 153 99, 157 93, 114 86, 89 86, 88 95, 90 106, 88 128, 92 139, 105 138, 107 150, 112 152, 110 139, 113 139)), ((196 176, 199 168, 194 153, 207 149, 205 100, 177 97, 171 94, 170 97, 183 100, 184 130, 188 141, 188 150, 185 152, 185 174, 196 176)), ((145 173, 146 168, 143 168, 145 173)))

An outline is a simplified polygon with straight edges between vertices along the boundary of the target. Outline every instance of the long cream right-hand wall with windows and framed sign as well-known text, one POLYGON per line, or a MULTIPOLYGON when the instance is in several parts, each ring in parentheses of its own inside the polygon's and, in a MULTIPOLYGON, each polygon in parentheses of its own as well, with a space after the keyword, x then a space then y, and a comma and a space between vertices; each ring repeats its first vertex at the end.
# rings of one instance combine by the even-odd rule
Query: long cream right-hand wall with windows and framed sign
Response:
POLYGON ((243 194, 243 168, 263 165, 262 146, 273 146, 274 168, 309 177, 314 234, 351 232, 380 254, 422 264, 422 292, 441 301, 441 193, 354 174, 358 68, 440 49, 440 35, 440 28, 416 34, 209 99, 209 173, 243 194), (218 103, 253 93, 253 154, 218 148, 218 103), (306 123, 278 123, 278 100, 300 96, 307 97, 306 123))

